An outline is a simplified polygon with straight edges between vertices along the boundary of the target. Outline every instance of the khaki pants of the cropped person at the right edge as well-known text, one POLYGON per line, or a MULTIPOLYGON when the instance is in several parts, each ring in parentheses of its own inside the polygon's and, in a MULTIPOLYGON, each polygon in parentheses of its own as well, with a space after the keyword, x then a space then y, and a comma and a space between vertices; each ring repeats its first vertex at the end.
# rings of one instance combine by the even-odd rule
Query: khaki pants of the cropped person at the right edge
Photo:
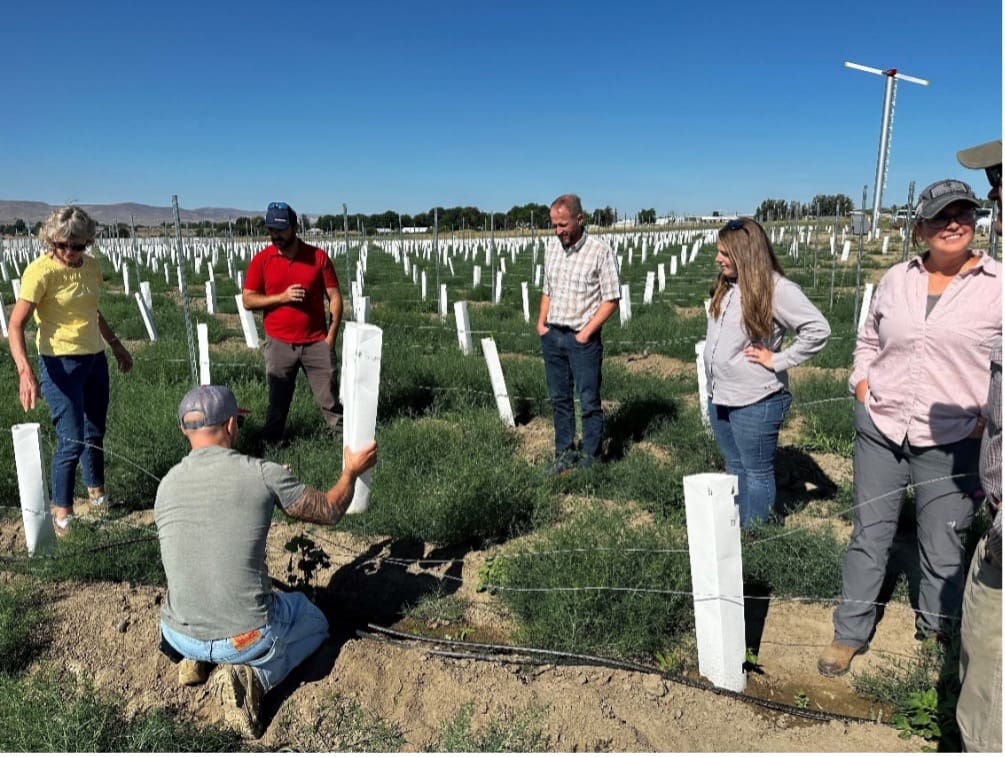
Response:
POLYGON ((960 700, 956 720, 968 752, 1002 749, 1002 569, 981 539, 963 594, 960 700))

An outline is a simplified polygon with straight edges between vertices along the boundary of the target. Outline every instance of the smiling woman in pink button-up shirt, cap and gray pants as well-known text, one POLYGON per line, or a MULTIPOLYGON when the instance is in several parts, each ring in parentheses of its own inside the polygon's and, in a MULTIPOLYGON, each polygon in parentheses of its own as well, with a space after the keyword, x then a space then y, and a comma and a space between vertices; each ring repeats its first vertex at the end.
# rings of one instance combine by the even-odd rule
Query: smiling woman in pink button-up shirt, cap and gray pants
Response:
POLYGON ((843 676, 867 648, 909 485, 921 557, 916 635, 946 640, 958 621, 991 343, 1002 328, 1000 265, 970 247, 979 204, 962 181, 925 188, 913 235, 927 249, 886 271, 858 336, 848 381, 854 528, 834 640, 817 661, 824 676, 843 676))

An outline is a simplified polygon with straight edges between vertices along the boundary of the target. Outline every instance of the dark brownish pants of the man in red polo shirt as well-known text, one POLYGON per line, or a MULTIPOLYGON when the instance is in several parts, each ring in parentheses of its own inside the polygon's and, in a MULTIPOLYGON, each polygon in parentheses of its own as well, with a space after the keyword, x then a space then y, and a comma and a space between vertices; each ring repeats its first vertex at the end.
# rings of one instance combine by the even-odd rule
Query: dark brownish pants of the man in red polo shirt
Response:
POLYGON ((324 339, 305 345, 291 345, 277 339, 265 339, 265 378, 268 381, 268 409, 261 430, 262 440, 275 442, 282 437, 296 388, 296 374, 304 369, 315 401, 326 422, 335 430, 342 424, 342 408, 336 399, 338 376, 333 370, 333 350, 324 339))

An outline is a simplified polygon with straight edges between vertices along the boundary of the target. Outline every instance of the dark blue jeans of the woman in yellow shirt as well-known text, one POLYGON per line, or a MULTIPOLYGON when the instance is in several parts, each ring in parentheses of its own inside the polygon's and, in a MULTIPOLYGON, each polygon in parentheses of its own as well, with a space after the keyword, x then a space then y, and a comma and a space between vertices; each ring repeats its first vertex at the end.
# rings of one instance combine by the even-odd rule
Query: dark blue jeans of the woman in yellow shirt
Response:
POLYGON ((109 362, 93 355, 39 355, 42 397, 56 429, 52 504, 73 507, 76 464, 88 487, 105 486, 105 423, 109 414, 109 362))

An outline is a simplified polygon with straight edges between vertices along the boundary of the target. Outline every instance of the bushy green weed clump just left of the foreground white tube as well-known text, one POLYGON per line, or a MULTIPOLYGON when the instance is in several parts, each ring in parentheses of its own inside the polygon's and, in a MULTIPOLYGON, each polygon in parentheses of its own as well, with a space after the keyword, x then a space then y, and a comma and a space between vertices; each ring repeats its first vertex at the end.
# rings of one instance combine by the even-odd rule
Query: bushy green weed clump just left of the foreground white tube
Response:
POLYGON ((528 643, 650 660, 693 628, 684 533, 624 506, 574 507, 566 523, 504 547, 482 583, 528 643))

